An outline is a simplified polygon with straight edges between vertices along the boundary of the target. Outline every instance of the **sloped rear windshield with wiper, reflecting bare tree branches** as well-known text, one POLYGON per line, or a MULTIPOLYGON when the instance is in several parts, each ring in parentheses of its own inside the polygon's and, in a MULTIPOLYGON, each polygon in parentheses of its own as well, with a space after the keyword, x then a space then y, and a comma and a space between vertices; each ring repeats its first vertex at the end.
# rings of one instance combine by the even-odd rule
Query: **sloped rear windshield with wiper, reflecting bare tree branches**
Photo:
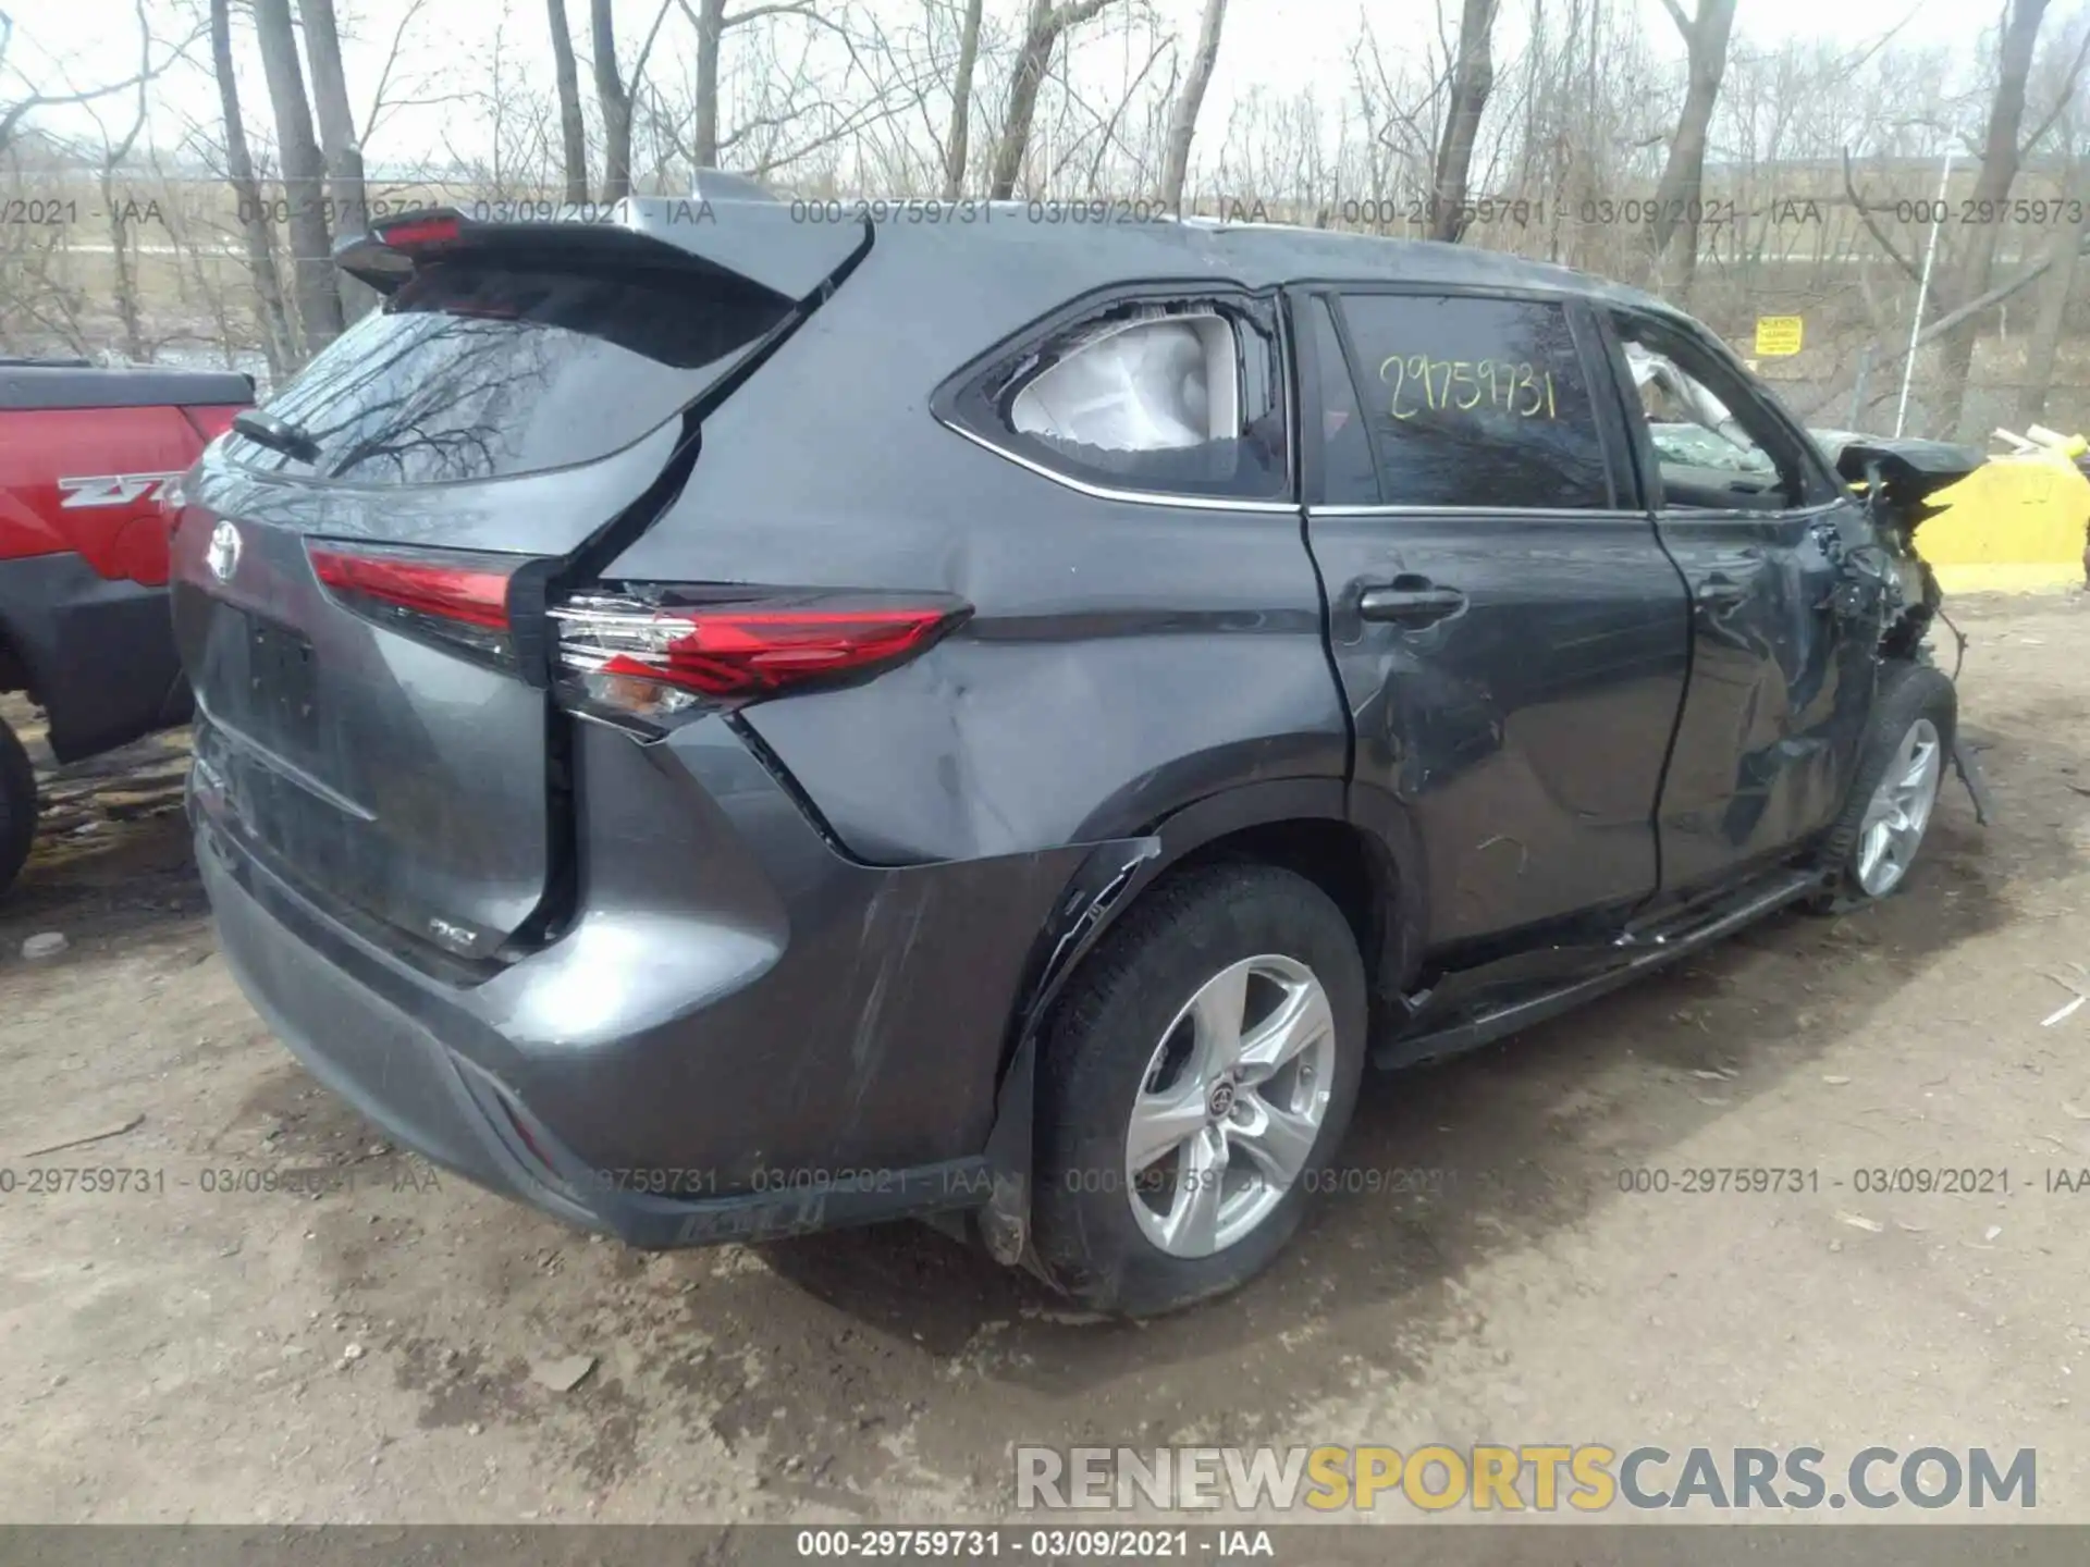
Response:
POLYGON ((270 401, 318 447, 309 468, 240 435, 226 453, 359 485, 594 462, 673 418, 786 309, 692 272, 422 265, 270 401))

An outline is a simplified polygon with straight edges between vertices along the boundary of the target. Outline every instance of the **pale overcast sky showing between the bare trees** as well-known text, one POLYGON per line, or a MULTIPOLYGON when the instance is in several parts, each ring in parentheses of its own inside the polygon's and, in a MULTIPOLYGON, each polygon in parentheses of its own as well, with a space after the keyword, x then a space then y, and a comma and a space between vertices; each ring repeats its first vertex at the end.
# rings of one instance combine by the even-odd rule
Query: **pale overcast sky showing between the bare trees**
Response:
MULTIPOLYGON (((920 0, 878 0, 892 15, 913 10, 920 0)), ((1150 0, 1164 23, 1172 23, 1185 40, 1195 38, 1202 0, 1150 0)), ((1693 0, 1685 0, 1689 6, 1693 0)), ((10 52, 10 77, 0 84, 0 102, 17 96, 21 75, 31 86, 59 92, 69 77, 77 86, 121 79, 136 69, 136 23, 130 0, 0 0, 15 17, 15 48, 10 52), (56 63, 56 65, 54 65, 56 63), (19 75, 17 75, 19 73, 19 75)), ((997 15, 1014 17, 1020 0, 989 0, 997 15)), ((1634 6, 1641 27, 1666 54, 1680 59, 1676 29, 1662 10, 1662 0, 1618 0, 1634 6)), ((196 13, 203 10, 196 0, 196 13)), ((343 23, 349 92, 355 98, 357 115, 364 113, 376 86, 378 73, 389 52, 399 17, 408 0, 336 0, 343 23)), ((625 54, 635 48, 635 38, 652 21, 650 0, 619 0, 619 31, 625 54)), ((1369 15, 1381 40, 1398 44, 1415 40, 1417 54, 1421 40, 1438 31, 1444 13, 1457 17, 1457 0, 1231 0, 1227 27, 1218 54, 1202 123, 1206 134, 1225 127, 1231 104, 1252 86, 1290 96, 1304 88, 1340 92, 1348 81, 1348 50, 1358 31, 1358 17, 1369 15)), ((2057 6, 2061 13, 2063 6, 2057 6)), ((587 0, 568 0, 568 19, 575 27, 575 46, 581 52, 581 88, 587 84, 587 0)), ((1879 38, 1900 25, 1898 38, 1917 46, 1958 46, 1969 54, 1979 44, 1985 29, 1992 29, 2000 0, 1741 0, 1737 13, 1737 48, 1779 44, 1785 38, 1833 38, 1860 44, 1879 38)), ((173 6, 155 10, 155 25, 161 33, 180 33, 186 13, 173 6)), ((1505 0, 1503 38, 1499 59, 1515 48, 1515 33, 1522 31, 1522 17, 1528 15, 1526 0, 1505 0)), ((431 73, 445 59, 485 56, 495 31, 506 17, 506 40, 531 61, 531 71, 539 81, 550 81, 550 48, 545 42, 545 10, 541 0, 424 0, 422 13, 408 31, 408 59, 401 61, 408 73, 431 73)), ((1091 38, 1093 38, 1091 25, 1091 38)), ((688 59, 690 23, 679 10, 671 10, 656 46, 656 63, 665 56, 665 69, 675 69, 688 59)), ((259 84, 259 67, 253 59, 253 42, 240 27, 240 71, 247 121, 253 130, 268 130, 265 96, 259 84), (245 77, 253 75, 253 86, 245 77)), ((1101 52, 1104 44, 1093 46, 1101 52)), ((207 65, 207 48, 199 50, 199 61, 207 65)), ((1087 61, 1089 69, 1114 73, 1114 61, 1087 61)), ((161 92, 178 115, 199 121, 215 119, 215 94, 205 71, 184 73, 169 79, 161 92)), ((125 111, 111 109, 115 117, 125 111)), ((178 119, 169 115, 169 119, 178 119)), ((366 157, 372 163, 420 161, 431 157, 439 144, 445 111, 405 109, 387 119, 366 157)), ((46 130, 59 134, 90 132, 92 125, 77 117, 77 111, 50 111, 40 117, 46 130)), ((451 127, 454 130, 454 127, 451 127)), ((161 140, 173 140, 180 127, 157 123, 161 140)))

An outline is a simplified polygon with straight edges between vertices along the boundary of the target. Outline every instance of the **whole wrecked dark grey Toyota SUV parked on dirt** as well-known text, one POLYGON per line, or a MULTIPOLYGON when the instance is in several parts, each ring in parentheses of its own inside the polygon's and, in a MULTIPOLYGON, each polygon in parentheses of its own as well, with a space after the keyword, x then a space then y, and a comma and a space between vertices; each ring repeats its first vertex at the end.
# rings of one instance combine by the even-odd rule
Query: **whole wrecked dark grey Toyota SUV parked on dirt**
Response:
POLYGON ((1902 880, 1954 706, 1896 483, 1687 318, 934 211, 395 221, 192 472, 224 951, 403 1143, 1156 1312, 1290 1239, 1367 1059, 1902 880), (1657 455, 1655 382, 1756 455, 1657 455))

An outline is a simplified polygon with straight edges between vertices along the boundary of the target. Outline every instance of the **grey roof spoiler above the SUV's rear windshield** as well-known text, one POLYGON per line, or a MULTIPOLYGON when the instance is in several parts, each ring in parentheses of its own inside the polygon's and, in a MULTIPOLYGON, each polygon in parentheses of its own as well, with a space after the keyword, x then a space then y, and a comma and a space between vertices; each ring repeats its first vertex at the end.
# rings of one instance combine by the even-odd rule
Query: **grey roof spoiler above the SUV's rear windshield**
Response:
POLYGON ((506 221, 508 203, 481 203, 500 215, 470 217, 456 207, 424 207, 389 217, 334 247, 334 265, 378 293, 393 293, 420 261, 485 251, 541 261, 629 261, 694 265, 805 303, 872 244, 869 219, 809 224, 780 201, 625 196, 602 207, 514 203, 543 217, 506 221))

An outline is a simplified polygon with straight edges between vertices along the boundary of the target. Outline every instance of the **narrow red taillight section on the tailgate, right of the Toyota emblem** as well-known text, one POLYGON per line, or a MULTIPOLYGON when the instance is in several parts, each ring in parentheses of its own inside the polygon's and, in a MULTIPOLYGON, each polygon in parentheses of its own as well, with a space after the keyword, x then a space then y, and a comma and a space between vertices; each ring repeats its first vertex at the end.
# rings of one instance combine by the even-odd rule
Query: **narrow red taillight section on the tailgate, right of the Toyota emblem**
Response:
POLYGON ((508 583, 522 556, 318 539, 305 545, 305 554, 343 608, 422 641, 512 662, 508 583))

